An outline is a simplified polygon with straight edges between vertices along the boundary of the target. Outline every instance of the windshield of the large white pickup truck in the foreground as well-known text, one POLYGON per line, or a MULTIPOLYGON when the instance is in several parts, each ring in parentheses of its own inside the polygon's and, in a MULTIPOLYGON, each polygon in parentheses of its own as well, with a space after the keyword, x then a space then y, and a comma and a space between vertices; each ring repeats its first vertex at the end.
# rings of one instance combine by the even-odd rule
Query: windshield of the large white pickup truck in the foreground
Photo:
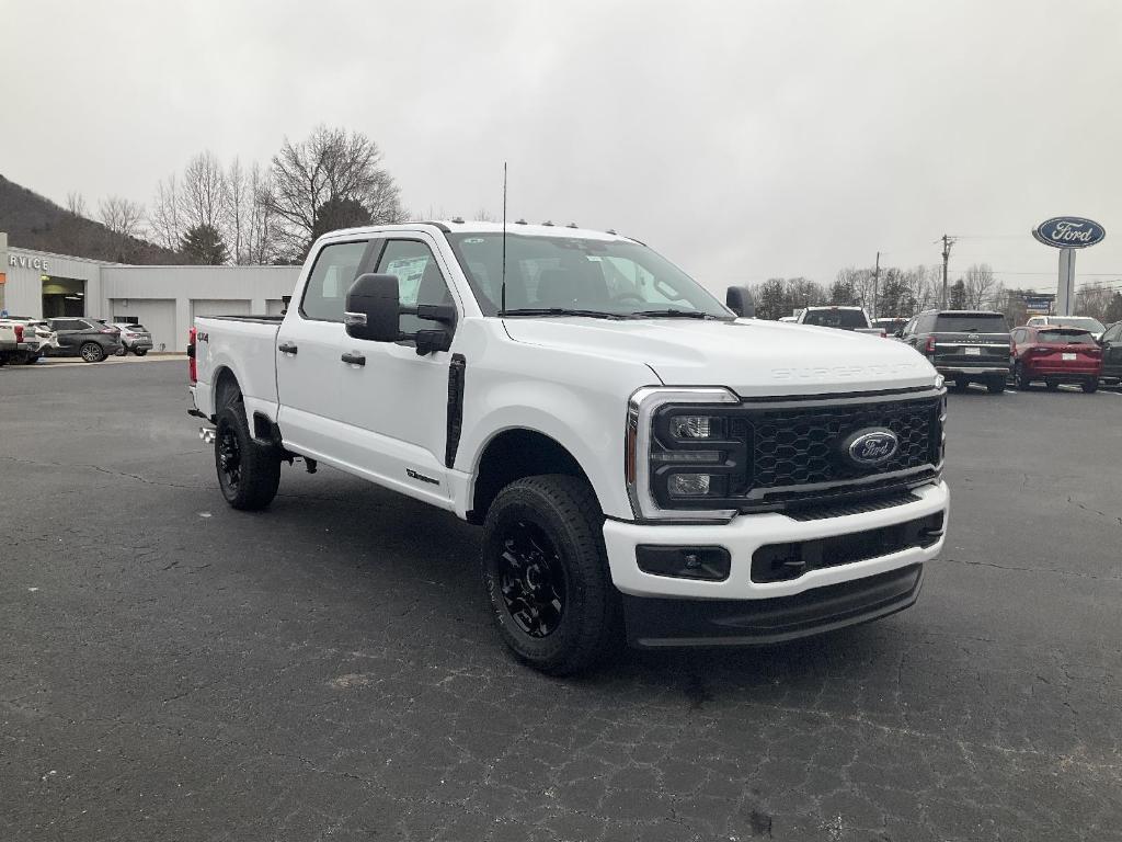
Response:
MULTIPOLYGON (((471 291, 485 315, 497 315, 503 294, 503 235, 451 234, 471 291)), ((697 281, 638 242, 582 237, 506 236, 506 314, 616 318, 734 319, 697 281)))

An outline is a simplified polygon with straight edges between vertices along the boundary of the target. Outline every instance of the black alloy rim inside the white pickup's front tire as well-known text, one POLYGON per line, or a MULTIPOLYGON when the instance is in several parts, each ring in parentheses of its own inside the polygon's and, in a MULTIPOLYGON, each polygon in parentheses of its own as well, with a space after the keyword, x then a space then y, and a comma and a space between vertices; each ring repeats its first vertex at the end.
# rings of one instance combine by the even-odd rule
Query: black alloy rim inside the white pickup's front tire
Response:
POLYGON ((531 638, 557 631, 564 616, 568 577, 561 557, 535 523, 518 520, 502 536, 499 589, 515 624, 531 638))

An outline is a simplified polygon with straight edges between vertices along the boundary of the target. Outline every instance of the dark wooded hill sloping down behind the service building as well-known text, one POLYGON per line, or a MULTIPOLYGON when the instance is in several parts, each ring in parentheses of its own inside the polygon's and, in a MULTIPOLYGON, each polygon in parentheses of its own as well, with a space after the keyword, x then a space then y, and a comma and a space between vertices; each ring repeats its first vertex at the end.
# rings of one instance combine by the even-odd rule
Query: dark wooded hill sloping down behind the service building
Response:
POLYGON ((0 231, 8 245, 114 263, 172 265, 175 251, 129 237, 120 242, 101 222, 71 213, 49 199, 0 175, 0 231))

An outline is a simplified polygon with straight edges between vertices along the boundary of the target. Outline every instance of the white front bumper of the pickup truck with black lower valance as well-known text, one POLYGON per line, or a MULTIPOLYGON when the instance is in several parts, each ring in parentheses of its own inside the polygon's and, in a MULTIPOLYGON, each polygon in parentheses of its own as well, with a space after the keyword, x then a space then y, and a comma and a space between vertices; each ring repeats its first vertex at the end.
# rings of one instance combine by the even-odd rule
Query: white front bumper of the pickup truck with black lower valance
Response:
MULTIPOLYGON (((876 577, 902 568, 922 566, 925 561, 935 559, 942 549, 947 529, 948 493, 946 483, 927 485, 912 492, 914 502, 894 505, 855 514, 845 514, 820 520, 795 520, 781 513, 746 514, 734 518, 728 523, 714 524, 649 524, 609 520, 604 524, 604 542, 607 548, 608 565, 611 580, 624 594, 624 604, 628 613, 631 626, 645 626, 651 616, 666 617, 666 635, 674 640, 690 637, 725 638, 728 634, 714 634, 721 628, 735 630, 743 628, 741 620, 735 617, 774 616, 780 626, 792 622, 799 626, 792 633, 776 631, 784 637, 810 634, 836 628, 839 623, 850 624, 875 619, 884 613, 899 611, 914 602, 919 579, 914 588, 909 586, 908 593, 898 593, 891 605, 883 604, 876 594, 868 600, 865 596, 846 597, 848 607, 838 613, 818 612, 813 606, 825 606, 837 598, 833 587, 854 580, 876 577), (862 560, 836 566, 822 566, 809 569, 797 578, 781 582, 754 582, 752 577, 753 555, 767 544, 787 544, 819 539, 831 539, 839 536, 867 532, 883 528, 909 523, 930 515, 942 514, 942 534, 925 547, 907 547, 905 549, 873 556, 862 560), (668 547, 723 547, 729 553, 729 573, 724 580, 688 579, 671 576, 659 576, 646 573, 638 567, 636 550, 640 546, 668 547), (914 593, 912 593, 914 592, 914 593), (799 597, 793 602, 792 597, 799 597), (673 601, 686 603, 671 610, 665 603, 673 601), (755 602, 758 608, 748 610, 748 602, 755 602), (810 606, 808 608, 808 606, 810 606), (894 606, 894 607, 893 607, 894 606), (793 614, 791 613, 793 612, 793 614), (808 613, 809 612, 809 613, 808 613), (816 613, 817 612, 817 613, 816 613), (872 616, 868 614, 872 613, 872 616), (791 616, 810 617, 808 623, 791 620, 791 616), (811 616, 813 615, 813 616, 811 616), (844 616, 842 616, 844 615, 844 616), (678 620, 673 620, 678 617, 678 620), (705 617, 703 622, 692 622, 697 634, 684 634, 682 617, 705 617), (724 617, 724 620, 721 620, 724 617), (729 617, 733 617, 730 620, 729 617)), ((898 583, 899 584, 899 583, 898 583)), ((848 594, 848 592, 846 592, 848 594)), ((748 623, 758 626, 757 621, 748 623)), ((638 637, 629 631, 634 640, 638 637)), ((732 634, 733 638, 760 639, 757 632, 732 634)), ((644 639, 655 639, 646 635, 644 639)), ((763 635, 763 642, 769 638, 763 635)), ((719 642, 719 641, 718 641, 719 642)), ((743 641, 741 641, 743 642, 743 641)), ((656 643, 644 643, 653 646, 656 643)))

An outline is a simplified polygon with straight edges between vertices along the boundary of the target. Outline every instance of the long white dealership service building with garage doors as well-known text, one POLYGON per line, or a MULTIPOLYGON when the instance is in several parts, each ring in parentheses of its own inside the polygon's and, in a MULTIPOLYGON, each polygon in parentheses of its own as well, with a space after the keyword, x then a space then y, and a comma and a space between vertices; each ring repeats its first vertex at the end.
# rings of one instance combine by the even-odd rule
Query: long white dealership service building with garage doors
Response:
POLYGON ((298 266, 131 266, 8 246, 0 232, 0 312, 139 322, 154 349, 178 351, 196 315, 275 315, 298 266))

